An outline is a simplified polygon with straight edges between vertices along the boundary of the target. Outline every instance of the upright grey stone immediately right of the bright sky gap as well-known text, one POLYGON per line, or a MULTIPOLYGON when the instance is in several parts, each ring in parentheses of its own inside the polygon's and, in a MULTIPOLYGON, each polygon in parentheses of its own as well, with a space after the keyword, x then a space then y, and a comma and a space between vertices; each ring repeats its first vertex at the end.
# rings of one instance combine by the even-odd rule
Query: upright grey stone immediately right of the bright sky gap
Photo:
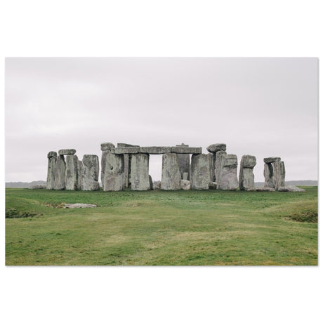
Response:
POLYGON ((163 154, 162 190, 180 190, 180 169, 177 154, 163 154))

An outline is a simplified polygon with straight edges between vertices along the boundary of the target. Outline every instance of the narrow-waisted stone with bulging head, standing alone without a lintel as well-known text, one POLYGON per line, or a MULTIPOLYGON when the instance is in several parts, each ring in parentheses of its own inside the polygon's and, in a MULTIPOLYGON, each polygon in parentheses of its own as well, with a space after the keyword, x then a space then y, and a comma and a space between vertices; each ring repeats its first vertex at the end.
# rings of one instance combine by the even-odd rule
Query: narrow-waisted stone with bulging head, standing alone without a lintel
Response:
POLYGON ((252 191, 255 188, 255 176, 253 167, 256 166, 256 157, 244 154, 240 162, 239 188, 244 191, 252 191))

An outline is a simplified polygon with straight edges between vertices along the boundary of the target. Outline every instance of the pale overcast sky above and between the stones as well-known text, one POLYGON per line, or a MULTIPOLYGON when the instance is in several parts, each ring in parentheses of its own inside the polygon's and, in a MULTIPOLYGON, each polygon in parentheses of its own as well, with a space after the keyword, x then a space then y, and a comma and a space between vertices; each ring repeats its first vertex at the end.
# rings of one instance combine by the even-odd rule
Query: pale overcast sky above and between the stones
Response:
POLYGON ((256 181, 270 156, 286 180, 317 180, 316 58, 6 58, 5 83, 7 182, 46 180, 49 151, 100 157, 107 141, 226 143, 256 156, 256 181))

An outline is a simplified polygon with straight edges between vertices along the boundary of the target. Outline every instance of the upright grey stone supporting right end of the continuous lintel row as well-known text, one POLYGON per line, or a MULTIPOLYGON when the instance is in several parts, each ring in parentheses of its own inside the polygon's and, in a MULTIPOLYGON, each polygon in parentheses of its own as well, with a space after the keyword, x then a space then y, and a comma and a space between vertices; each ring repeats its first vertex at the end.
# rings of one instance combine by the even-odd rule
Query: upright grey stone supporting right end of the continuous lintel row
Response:
POLYGON ((190 184, 192 190, 209 190, 211 180, 211 154, 193 154, 190 184))

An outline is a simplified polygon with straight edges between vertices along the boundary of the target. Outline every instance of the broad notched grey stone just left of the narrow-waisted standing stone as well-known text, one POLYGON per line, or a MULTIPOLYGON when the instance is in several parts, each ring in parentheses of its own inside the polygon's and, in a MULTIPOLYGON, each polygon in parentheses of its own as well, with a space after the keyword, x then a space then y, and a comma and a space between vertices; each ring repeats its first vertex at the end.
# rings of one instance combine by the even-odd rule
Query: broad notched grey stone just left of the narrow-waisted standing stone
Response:
POLYGON ((238 160, 236 154, 221 155, 220 174, 216 182, 219 190, 237 190, 239 186, 237 166, 238 160))

